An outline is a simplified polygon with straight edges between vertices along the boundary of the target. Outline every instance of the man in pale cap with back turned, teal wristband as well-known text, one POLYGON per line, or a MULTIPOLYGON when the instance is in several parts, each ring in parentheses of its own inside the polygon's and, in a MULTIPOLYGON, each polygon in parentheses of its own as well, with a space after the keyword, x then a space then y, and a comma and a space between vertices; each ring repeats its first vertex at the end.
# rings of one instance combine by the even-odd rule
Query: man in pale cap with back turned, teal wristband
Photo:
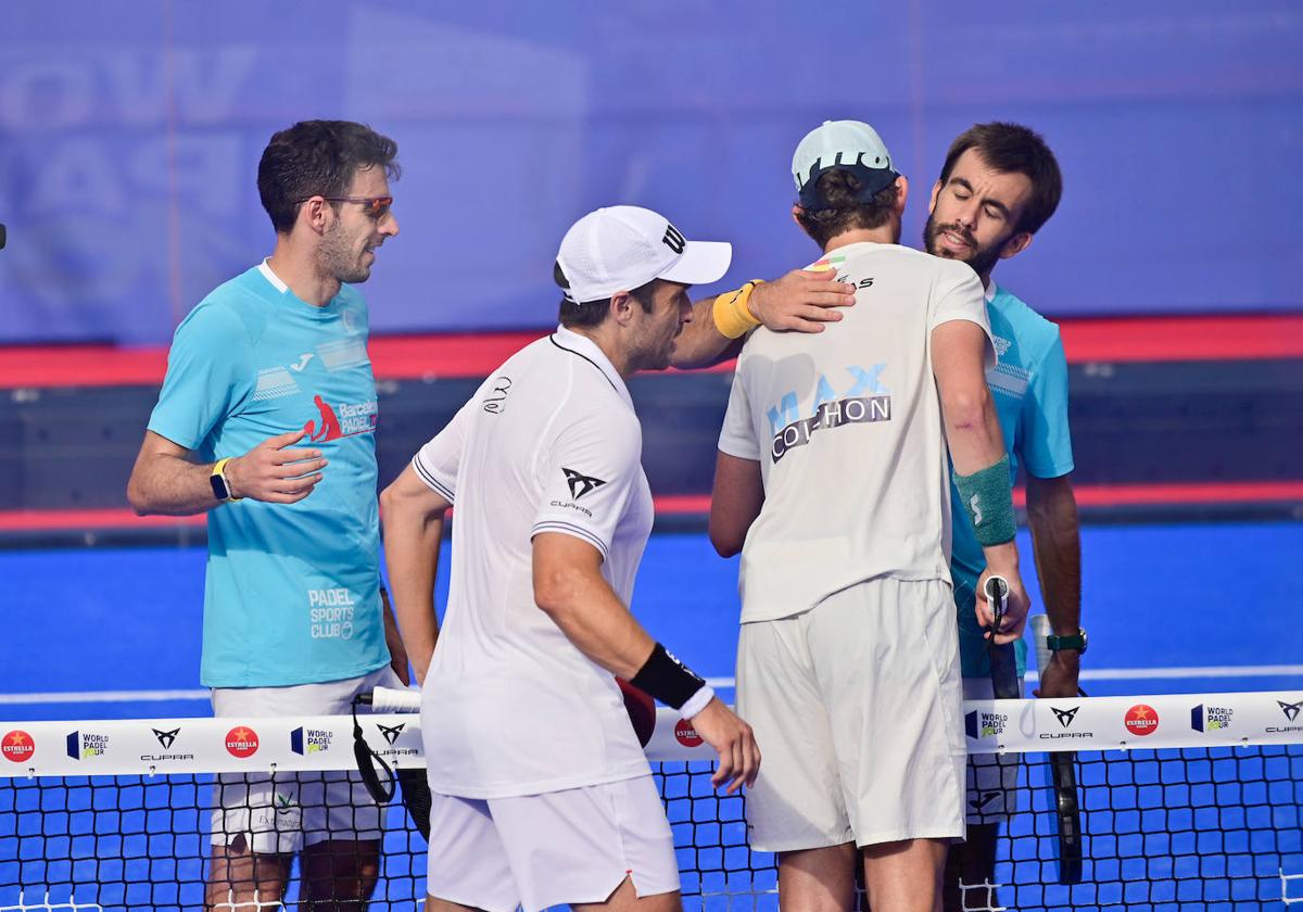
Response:
POLYGON ((792 172, 812 268, 856 306, 820 335, 756 330, 719 436, 710 534, 743 554, 737 706, 766 753, 748 833, 784 909, 851 908, 861 857, 874 912, 930 912, 964 834, 947 446, 984 577, 1009 581, 997 641, 1027 611, 982 287, 898 245, 908 186, 868 124, 813 130, 792 172))

